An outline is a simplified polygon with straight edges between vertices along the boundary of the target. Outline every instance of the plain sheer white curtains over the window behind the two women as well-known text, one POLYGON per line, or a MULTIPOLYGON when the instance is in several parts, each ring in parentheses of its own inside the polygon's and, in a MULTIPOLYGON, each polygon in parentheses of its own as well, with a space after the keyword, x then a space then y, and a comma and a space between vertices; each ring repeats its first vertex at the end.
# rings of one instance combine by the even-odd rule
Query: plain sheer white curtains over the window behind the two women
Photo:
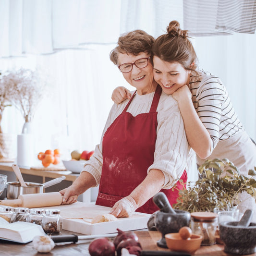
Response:
MULTIPOLYGON (((0 71, 40 68, 51 80, 33 121, 39 151, 93 150, 112 106, 112 90, 128 85, 109 60, 120 34, 144 29, 157 37, 171 20, 183 27, 175 0, 1 0, 0 71), (40 53, 40 54, 36 54, 40 53), (49 54, 53 53, 53 54, 49 54)), ((256 35, 195 37, 200 66, 227 86, 247 132, 256 138, 256 35)), ((20 134, 18 110, 4 110, 5 133, 20 134)))

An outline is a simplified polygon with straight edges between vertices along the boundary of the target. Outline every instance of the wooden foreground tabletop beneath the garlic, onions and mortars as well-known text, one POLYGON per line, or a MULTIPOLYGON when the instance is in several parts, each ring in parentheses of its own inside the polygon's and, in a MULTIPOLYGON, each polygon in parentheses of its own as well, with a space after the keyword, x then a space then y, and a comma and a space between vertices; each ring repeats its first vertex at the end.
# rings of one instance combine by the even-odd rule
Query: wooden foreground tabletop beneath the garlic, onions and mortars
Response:
MULTIPOLYGON (((143 250, 152 250, 152 251, 169 251, 168 249, 160 248, 157 246, 156 242, 161 238, 161 234, 157 231, 135 231, 139 237, 139 242, 142 245, 143 250)), ((73 232, 62 231, 61 234, 73 234, 73 232)), ((79 235, 78 233, 76 233, 79 235)), ((81 241, 76 244, 73 243, 61 243, 56 244, 50 253, 40 254, 33 248, 32 243, 28 244, 17 244, 12 242, 7 242, 0 240, 0 255, 1 256, 75 256, 83 255, 89 256, 88 246, 91 241, 81 241)), ((212 246, 201 246, 196 252, 195 255, 204 255, 204 256, 227 256, 228 254, 223 251, 224 246, 221 244, 215 244, 212 246)), ((249 256, 256 256, 251 254, 249 256)))

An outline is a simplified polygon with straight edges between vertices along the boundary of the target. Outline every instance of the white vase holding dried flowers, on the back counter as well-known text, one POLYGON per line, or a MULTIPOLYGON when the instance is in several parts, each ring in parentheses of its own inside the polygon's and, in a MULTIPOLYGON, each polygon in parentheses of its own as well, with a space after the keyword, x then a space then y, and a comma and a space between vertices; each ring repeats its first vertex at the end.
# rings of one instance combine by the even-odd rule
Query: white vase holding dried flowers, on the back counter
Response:
POLYGON ((17 164, 22 167, 34 165, 34 135, 31 122, 25 122, 22 134, 17 136, 17 164))

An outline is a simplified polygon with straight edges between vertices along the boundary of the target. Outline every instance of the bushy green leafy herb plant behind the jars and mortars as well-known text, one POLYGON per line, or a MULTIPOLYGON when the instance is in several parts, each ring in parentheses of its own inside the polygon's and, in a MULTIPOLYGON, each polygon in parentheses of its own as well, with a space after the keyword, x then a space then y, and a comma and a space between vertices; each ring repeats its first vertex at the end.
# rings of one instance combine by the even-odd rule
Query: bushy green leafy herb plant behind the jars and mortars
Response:
POLYGON ((256 199, 256 167, 249 170, 248 176, 228 159, 207 160, 198 168, 200 178, 187 183, 187 189, 179 191, 174 208, 189 212, 209 211, 214 207, 229 208, 238 205, 239 194, 247 192, 256 199))

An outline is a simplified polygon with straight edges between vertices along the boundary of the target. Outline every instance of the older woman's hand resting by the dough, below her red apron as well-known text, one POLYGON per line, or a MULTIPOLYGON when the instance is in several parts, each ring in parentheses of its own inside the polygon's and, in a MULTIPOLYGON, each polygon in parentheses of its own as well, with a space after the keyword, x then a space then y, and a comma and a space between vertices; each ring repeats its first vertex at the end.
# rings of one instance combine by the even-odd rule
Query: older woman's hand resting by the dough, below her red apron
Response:
POLYGON ((131 217, 137 208, 134 198, 128 195, 115 203, 110 214, 118 218, 131 217))

